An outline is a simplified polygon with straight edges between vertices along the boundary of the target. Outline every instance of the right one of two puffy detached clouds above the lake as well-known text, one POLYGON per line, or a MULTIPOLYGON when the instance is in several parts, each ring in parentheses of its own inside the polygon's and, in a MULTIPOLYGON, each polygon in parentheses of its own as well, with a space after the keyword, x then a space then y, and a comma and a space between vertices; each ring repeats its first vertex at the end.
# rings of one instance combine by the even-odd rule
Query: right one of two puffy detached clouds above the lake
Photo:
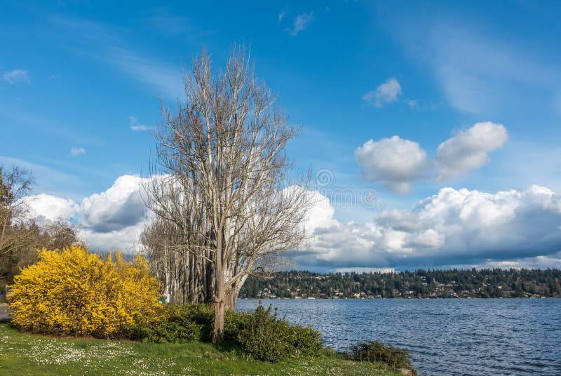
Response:
POLYGON ((489 162, 489 153, 502 147, 508 133, 502 124, 476 123, 438 146, 436 179, 445 182, 471 173, 489 162))

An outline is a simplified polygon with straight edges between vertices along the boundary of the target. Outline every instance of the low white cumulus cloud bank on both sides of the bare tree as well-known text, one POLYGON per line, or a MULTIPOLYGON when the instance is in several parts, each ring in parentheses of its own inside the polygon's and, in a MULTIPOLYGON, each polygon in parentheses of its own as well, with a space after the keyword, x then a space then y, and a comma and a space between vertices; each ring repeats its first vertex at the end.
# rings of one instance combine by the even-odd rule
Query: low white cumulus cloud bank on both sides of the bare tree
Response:
MULTIPOLYGON (((81 203, 31 196, 40 220, 76 223, 93 250, 137 252, 147 221, 145 178, 123 175, 81 203)), ((546 187, 489 194, 444 187, 410 211, 389 209, 372 222, 339 222, 330 199, 311 191, 311 239, 293 253, 300 269, 561 267, 561 198, 546 187)))

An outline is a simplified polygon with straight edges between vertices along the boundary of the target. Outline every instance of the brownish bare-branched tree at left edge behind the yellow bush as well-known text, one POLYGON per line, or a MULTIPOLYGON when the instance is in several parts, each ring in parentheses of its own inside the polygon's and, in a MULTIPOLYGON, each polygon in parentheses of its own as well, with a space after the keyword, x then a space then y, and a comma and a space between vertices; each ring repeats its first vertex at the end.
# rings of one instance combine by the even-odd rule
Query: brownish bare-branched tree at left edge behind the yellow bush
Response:
POLYGON ((0 297, 22 267, 37 261, 41 248, 62 249, 79 243, 65 221, 39 226, 27 219, 28 194, 33 185, 29 170, 0 166, 0 297))

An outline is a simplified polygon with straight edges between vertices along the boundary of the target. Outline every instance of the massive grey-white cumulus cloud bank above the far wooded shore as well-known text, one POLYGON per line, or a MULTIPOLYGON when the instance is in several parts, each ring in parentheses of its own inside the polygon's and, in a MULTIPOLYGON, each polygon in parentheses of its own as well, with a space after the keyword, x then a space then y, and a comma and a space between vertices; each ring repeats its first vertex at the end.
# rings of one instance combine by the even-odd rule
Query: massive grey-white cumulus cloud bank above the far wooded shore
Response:
MULTIPOLYGON (((327 212, 325 212, 327 214, 327 212)), ((299 267, 524 266, 561 254, 561 199, 550 189, 489 194, 442 188, 411 212, 391 210, 374 222, 316 227, 299 267), (514 261, 513 261, 514 260, 514 261)))

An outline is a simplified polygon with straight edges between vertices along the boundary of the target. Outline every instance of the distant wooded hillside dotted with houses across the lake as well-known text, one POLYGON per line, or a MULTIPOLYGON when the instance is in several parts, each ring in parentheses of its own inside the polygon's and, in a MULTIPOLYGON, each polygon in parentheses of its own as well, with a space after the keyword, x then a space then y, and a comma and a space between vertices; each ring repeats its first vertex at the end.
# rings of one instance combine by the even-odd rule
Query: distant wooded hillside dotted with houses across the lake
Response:
POLYGON ((396 273, 282 271, 250 277, 248 298, 561 297, 559 269, 450 269, 396 273))

